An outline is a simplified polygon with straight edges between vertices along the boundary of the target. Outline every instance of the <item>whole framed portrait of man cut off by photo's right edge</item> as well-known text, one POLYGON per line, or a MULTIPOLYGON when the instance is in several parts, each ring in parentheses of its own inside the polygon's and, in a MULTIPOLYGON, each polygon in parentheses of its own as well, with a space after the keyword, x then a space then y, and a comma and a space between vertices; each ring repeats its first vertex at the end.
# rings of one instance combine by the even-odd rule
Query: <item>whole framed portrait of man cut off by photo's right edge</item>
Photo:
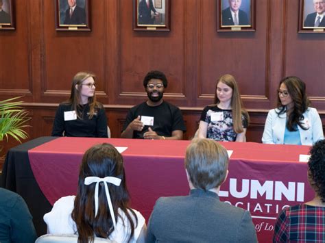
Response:
POLYGON ((300 0, 300 33, 325 33, 325 0, 300 0))

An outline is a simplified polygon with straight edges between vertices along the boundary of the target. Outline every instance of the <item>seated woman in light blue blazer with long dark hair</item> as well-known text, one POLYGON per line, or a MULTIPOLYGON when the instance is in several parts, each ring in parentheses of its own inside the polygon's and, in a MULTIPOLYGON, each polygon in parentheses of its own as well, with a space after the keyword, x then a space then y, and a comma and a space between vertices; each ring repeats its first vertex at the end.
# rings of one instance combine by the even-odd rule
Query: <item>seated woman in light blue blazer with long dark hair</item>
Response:
POLYGON ((282 79, 276 109, 267 114, 262 142, 312 145, 324 139, 320 115, 309 105, 306 86, 300 78, 282 79))

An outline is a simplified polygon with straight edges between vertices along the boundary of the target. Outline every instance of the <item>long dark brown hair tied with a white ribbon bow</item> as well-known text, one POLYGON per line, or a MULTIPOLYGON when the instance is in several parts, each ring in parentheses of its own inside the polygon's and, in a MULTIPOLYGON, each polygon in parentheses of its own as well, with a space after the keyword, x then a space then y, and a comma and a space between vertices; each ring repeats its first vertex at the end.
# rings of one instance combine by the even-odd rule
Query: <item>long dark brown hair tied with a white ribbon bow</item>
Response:
POLYGON ((82 158, 77 196, 75 196, 75 204, 71 214, 77 225, 78 242, 86 243, 88 240, 93 242, 94 235, 108 238, 112 231, 114 231, 112 216, 110 215, 106 200, 104 183, 99 183, 99 206, 97 216, 95 216, 95 183, 88 186, 84 185, 86 177, 117 177, 121 179, 120 186, 108 183, 108 190, 114 209, 115 220, 117 221, 117 218, 123 220, 122 216, 118 213, 118 209, 121 209, 129 222, 129 224, 123 222, 123 225, 130 225, 130 231, 128 231, 130 232, 128 241, 130 241, 134 235, 135 227, 132 216, 136 219, 136 225, 138 218, 134 211, 128 207, 130 196, 125 183, 123 157, 114 146, 104 143, 97 144, 88 149, 82 158))

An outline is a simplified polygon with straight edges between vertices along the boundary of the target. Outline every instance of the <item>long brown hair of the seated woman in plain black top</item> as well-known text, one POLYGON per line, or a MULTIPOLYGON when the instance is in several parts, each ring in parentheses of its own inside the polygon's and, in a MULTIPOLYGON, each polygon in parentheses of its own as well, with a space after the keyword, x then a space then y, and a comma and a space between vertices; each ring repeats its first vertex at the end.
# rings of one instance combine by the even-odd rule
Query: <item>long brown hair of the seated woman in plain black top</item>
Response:
MULTIPOLYGON (((95 74, 79 72, 73 77, 71 84, 71 93, 70 98, 65 103, 71 104, 73 110, 77 113, 77 117, 82 119, 82 112, 80 109, 80 90, 82 89, 82 82, 88 79, 88 77, 93 77, 95 80, 95 74), (77 88, 76 88, 77 86, 77 88)), ((102 107, 101 103, 96 101, 96 93, 94 93, 93 97, 88 97, 88 105, 89 105, 89 118, 93 118, 98 107, 102 107)))

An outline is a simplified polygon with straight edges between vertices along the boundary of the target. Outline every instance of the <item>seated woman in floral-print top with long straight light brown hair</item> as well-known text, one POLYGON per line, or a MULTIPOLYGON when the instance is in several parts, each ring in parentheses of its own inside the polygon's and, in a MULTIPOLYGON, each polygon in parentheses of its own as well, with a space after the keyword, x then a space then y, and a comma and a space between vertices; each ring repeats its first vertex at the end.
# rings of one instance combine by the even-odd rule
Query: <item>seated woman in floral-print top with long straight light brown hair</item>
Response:
POLYGON ((219 77, 214 104, 206 106, 201 114, 198 137, 245 142, 248 121, 236 80, 229 74, 219 77))

